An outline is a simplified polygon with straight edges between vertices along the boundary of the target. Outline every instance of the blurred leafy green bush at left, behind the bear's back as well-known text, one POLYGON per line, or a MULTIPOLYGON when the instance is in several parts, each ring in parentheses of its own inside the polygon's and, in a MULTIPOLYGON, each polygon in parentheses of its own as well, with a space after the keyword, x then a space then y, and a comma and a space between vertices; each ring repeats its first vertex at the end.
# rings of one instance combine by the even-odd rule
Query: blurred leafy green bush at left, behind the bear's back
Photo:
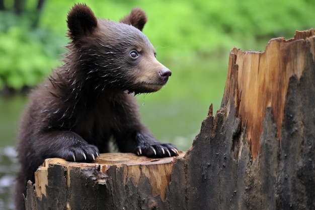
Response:
POLYGON ((0 24, 0 89, 33 87, 58 63, 63 40, 50 31, 30 28, 29 19, 3 12, 0 24), (8 21, 6 21, 8 20, 8 21))

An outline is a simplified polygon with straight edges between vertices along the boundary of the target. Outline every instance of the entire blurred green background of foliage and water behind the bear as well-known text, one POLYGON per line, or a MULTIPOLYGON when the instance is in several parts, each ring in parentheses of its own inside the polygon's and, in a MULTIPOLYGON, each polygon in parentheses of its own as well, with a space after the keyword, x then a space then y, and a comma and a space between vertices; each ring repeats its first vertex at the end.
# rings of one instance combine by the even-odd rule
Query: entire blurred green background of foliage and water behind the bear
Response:
MULTIPOLYGON (((83 1, 79 1, 82 3, 83 1)), ((0 209, 17 170, 13 147, 25 93, 60 65, 66 15, 78 1, 0 0, 0 209)), ((293 37, 315 26, 312 0, 99 1, 85 2, 96 16, 119 21, 133 7, 146 11, 143 32, 157 58, 172 70, 166 87, 137 96, 142 121, 162 142, 187 150, 213 103, 219 108, 228 53, 264 50, 271 38, 293 37), (144 104, 144 105, 142 105, 144 104)))

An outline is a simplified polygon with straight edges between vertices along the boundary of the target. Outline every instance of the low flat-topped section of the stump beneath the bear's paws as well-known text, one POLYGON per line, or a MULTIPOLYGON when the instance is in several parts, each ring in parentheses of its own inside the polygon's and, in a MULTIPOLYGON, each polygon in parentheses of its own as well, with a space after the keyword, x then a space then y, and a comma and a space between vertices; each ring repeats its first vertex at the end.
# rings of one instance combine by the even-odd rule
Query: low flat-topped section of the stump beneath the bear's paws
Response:
POLYGON ((175 160, 184 154, 152 159, 131 153, 107 153, 100 154, 94 163, 46 159, 35 172, 34 186, 28 182, 26 209, 157 206, 166 199, 175 160))

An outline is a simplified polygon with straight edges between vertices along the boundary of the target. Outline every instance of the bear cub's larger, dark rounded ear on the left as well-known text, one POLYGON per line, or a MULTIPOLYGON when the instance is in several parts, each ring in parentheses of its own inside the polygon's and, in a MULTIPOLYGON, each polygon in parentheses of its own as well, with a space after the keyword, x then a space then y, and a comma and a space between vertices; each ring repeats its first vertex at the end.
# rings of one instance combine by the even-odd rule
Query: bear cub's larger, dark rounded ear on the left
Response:
POLYGON ((97 26, 97 18, 87 5, 74 5, 68 13, 68 35, 73 40, 78 36, 92 33, 97 26))

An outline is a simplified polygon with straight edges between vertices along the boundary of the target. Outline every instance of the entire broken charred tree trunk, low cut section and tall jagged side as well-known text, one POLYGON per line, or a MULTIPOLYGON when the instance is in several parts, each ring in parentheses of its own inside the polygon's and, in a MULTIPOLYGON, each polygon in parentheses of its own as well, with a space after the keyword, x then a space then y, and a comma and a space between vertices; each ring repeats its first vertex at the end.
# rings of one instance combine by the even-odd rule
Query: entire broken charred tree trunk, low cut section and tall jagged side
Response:
POLYGON ((105 156, 93 164, 46 160, 26 205, 315 209, 314 81, 314 30, 272 39, 264 52, 233 48, 221 108, 212 116, 210 106, 186 154, 132 165, 139 157, 131 154, 107 154, 112 163, 104 165, 105 156))

